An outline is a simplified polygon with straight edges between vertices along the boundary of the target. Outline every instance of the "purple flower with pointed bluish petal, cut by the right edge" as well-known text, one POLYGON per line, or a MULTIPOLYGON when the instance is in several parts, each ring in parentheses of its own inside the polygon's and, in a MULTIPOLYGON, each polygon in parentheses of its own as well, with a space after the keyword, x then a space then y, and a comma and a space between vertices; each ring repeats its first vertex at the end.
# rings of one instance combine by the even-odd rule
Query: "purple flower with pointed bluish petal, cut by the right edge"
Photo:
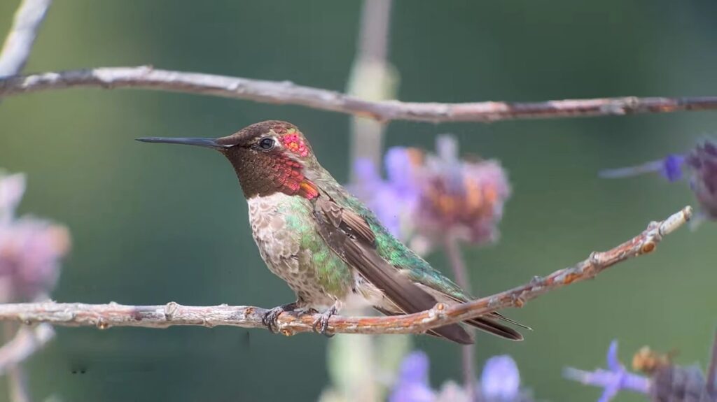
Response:
POLYGON ((663 160, 642 165, 603 170, 599 176, 614 179, 659 172, 670 182, 675 182, 683 177, 683 170, 690 172, 690 188, 704 217, 717 220, 717 144, 711 140, 698 144, 685 155, 668 155, 663 160))

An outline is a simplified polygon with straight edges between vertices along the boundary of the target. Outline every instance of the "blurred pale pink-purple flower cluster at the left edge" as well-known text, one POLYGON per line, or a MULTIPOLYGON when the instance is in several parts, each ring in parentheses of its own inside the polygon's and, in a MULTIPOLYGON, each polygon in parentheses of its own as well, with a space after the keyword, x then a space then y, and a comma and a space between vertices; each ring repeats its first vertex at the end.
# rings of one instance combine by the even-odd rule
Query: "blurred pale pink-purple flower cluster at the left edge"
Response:
POLYGON ((61 225, 34 217, 16 218, 22 175, 0 173, 0 302, 27 301, 49 292, 60 273, 60 258, 70 249, 61 225))

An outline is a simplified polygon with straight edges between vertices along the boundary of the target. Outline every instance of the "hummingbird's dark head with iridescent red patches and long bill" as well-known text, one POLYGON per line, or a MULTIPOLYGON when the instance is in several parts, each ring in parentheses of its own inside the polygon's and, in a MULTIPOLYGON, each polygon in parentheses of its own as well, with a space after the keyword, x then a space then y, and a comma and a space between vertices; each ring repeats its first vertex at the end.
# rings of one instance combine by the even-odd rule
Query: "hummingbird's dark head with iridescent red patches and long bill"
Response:
POLYGON ((307 177, 318 162, 304 135, 288 122, 259 122, 217 139, 145 137, 138 141, 217 149, 232 163, 247 199, 275 192, 307 198, 318 195, 307 177))

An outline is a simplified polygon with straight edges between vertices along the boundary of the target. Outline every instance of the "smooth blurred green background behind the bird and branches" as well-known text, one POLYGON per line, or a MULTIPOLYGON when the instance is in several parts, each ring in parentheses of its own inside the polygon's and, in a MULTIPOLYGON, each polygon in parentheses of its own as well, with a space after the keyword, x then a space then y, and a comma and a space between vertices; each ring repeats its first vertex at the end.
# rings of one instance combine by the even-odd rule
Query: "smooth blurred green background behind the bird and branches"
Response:
MULTIPOLYGON (((0 32, 18 1, 0 2, 0 32)), ((359 1, 56 1, 26 72, 153 64, 289 79, 343 91, 359 1)), ((399 99, 540 101, 621 95, 715 95, 714 1, 397 0, 390 60, 399 99)), ((70 227, 60 301, 271 307, 293 300, 264 266, 247 207, 220 155, 135 137, 218 137, 263 119, 297 124, 323 165, 348 180, 343 114, 138 90, 72 89, 0 104, 0 166, 27 172, 21 212, 70 227)), ((498 245, 466 249, 473 286, 518 285, 637 234, 693 204, 685 183, 599 180, 597 171, 689 149, 715 115, 426 124, 392 122, 386 143, 432 148, 455 133, 462 152, 497 157, 513 197, 498 245)), ((590 401, 564 366, 604 366, 609 341, 625 363, 642 345, 706 364, 717 323, 717 227, 680 230, 655 255, 545 295, 512 318, 535 330, 511 343, 479 335, 478 354, 509 353, 549 401, 590 401)), ((443 255, 429 255, 446 268, 443 255)), ((36 398, 65 401, 314 400, 328 382, 327 340, 237 328, 58 328, 29 362, 36 398), (82 373, 84 371, 84 373, 82 373)), ((339 335, 341 336, 341 335, 339 335)), ((428 337, 432 382, 460 379, 459 348, 428 337)), ((4 383, 0 388, 4 387, 4 383)), ((6 398, 0 389, 0 400, 6 398)), ((621 395, 618 401, 642 398, 621 395)))

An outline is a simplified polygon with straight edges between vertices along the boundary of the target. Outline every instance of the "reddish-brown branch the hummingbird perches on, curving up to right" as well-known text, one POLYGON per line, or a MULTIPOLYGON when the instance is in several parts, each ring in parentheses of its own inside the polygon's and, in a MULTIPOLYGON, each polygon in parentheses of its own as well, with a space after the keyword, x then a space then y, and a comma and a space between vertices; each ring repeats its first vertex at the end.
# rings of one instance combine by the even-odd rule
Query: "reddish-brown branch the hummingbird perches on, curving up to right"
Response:
MULTIPOLYGON (((652 222, 640 235, 611 250, 592 253, 587 260, 570 268, 557 270, 550 275, 535 277, 529 283, 495 295, 457 305, 438 304, 431 310, 393 317, 341 317, 329 320, 330 333, 422 333, 431 328, 485 315, 508 307, 521 307, 527 300, 562 288, 571 283, 593 278, 603 270, 655 250, 663 236, 673 232, 690 219, 692 210, 685 207, 663 222, 652 222)), ((0 320, 51 323, 54 325, 134 326, 166 328, 171 325, 234 325, 244 328, 262 328, 263 308, 218 305, 190 307, 177 303, 167 305, 89 305, 80 303, 27 303, 0 305, 0 320)), ((278 328, 285 335, 308 332, 317 315, 282 313, 278 328)))

